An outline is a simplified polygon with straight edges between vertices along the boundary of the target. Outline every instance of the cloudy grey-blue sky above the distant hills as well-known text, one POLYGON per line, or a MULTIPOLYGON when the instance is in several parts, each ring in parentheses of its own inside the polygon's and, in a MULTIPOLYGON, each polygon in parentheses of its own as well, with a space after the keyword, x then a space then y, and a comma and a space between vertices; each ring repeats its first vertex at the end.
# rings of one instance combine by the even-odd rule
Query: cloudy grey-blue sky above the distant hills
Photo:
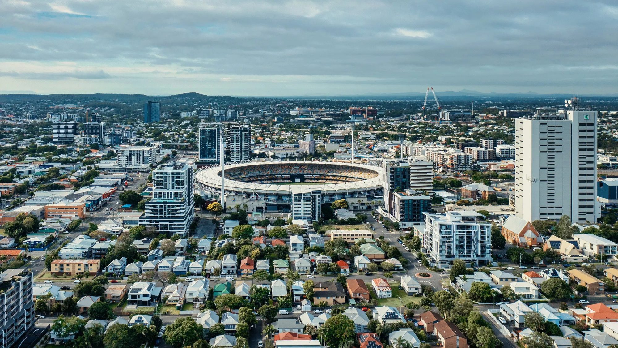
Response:
POLYGON ((0 0, 0 90, 618 94, 617 1, 0 0))

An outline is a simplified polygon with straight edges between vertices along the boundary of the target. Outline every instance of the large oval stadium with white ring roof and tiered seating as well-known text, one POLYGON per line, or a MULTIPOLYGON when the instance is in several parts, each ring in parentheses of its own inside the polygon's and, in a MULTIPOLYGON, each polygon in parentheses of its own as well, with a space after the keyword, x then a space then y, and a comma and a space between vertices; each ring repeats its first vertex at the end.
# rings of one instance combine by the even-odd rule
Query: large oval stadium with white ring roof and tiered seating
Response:
MULTIPOLYGON (((383 169, 357 163, 252 162, 226 165, 226 206, 250 212, 292 212, 318 220, 321 206, 346 199, 352 209, 371 209, 382 199, 383 169)), ((221 193, 221 167, 195 175, 198 188, 221 193)))

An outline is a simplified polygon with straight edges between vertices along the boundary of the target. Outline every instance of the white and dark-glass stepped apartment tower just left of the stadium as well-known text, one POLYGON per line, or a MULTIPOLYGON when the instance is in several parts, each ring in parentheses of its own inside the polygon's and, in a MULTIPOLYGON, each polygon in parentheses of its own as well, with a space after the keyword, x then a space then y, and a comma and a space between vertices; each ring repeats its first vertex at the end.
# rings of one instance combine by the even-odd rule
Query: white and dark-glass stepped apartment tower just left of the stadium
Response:
POLYGON ((193 221, 193 163, 178 160, 153 170, 153 198, 146 202, 140 225, 185 236, 193 221))

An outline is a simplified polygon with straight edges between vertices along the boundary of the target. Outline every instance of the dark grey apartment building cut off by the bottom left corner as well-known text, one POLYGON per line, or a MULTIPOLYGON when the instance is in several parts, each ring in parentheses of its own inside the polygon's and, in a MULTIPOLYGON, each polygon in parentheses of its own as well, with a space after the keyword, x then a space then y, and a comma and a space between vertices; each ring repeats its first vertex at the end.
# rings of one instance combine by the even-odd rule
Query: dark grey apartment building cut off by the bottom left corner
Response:
POLYGON ((32 272, 7 269, 0 274, 0 347, 14 347, 35 324, 32 272))

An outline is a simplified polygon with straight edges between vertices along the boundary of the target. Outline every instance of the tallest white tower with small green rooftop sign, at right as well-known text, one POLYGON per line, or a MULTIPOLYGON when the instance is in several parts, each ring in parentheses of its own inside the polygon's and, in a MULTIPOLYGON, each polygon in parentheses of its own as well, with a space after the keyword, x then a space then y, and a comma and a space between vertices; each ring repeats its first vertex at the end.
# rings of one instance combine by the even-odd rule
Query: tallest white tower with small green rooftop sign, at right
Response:
POLYGON ((515 120, 517 215, 527 221, 596 222, 596 111, 566 110, 515 120))

